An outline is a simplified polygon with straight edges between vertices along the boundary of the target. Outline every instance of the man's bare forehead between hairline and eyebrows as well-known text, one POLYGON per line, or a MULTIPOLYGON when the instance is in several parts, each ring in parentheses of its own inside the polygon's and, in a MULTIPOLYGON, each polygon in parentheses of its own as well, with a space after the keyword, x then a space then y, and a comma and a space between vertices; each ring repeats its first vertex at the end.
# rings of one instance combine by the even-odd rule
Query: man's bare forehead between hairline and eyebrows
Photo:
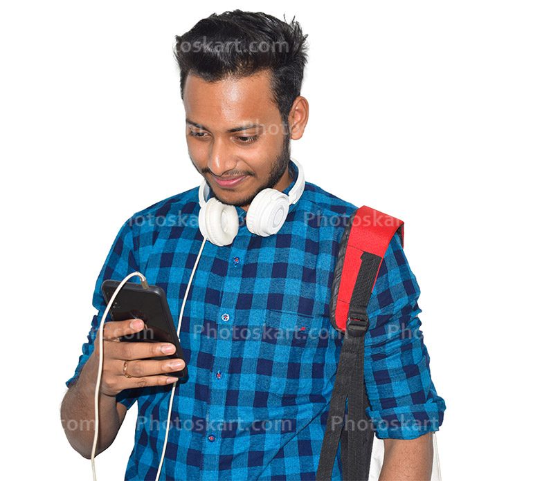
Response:
POLYGON ((242 121, 274 122, 280 116, 273 102, 268 70, 217 82, 188 75, 183 88, 183 106, 193 122, 220 129, 231 129, 242 121))

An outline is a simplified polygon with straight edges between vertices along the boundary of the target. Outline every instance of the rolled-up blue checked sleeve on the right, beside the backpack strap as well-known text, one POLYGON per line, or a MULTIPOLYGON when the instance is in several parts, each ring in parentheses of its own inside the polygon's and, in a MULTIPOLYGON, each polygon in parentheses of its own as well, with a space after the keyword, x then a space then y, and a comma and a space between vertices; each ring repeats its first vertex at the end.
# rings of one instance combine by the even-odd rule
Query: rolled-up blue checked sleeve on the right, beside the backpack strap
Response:
POLYGON ((368 304, 365 386, 380 439, 414 439, 438 431, 446 404, 437 395, 418 315, 420 295, 399 234, 383 257, 368 304))

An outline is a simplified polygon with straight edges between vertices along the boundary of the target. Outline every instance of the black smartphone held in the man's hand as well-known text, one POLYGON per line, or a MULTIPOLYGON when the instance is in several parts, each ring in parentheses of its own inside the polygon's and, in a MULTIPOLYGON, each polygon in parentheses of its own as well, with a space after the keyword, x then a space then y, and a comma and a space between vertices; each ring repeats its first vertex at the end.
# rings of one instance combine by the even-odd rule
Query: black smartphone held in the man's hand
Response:
MULTIPOLYGON (((106 304, 113 296, 120 281, 107 279, 102 282, 102 294, 106 304)), ((141 284, 127 282, 118 292, 109 310, 112 321, 125 321, 126 319, 143 319, 145 328, 120 337, 123 342, 170 342, 176 346, 176 351, 171 355, 152 357, 147 359, 183 359, 183 351, 174 328, 174 321, 168 307, 165 291, 157 285, 149 285, 144 289, 141 284)), ((186 363, 187 360, 183 359, 186 363)), ((186 377, 187 366, 182 370, 165 372, 165 375, 186 377)))

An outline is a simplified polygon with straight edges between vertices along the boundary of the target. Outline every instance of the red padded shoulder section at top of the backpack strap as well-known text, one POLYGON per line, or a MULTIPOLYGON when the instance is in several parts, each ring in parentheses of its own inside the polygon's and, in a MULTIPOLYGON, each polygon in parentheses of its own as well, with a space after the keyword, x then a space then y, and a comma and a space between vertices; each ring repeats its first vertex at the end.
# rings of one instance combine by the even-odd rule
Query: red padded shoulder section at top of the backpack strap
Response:
MULTIPOLYGON (((350 217, 350 223, 341 239, 337 261, 335 265, 332 297, 329 303, 330 318, 334 328, 345 332, 346 321, 350 314, 350 303, 354 295, 357 276, 363 265, 365 276, 375 271, 373 279, 365 279, 365 291, 370 299, 370 294, 376 283, 377 273, 383 261, 383 256, 392 239, 398 232, 401 246, 404 246, 404 222, 383 212, 363 205, 350 217), (365 263, 363 263, 363 259, 365 263), (368 272, 370 271, 370 272, 368 272), (369 285, 371 283, 371 285, 369 285)), ((363 281, 361 276, 361 282, 363 281)), ((355 299, 354 299, 355 300, 355 299)), ((363 301, 365 299, 362 299, 363 301)), ((368 304, 368 300, 367 300, 368 304)), ((352 306, 354 319, 357 319, 357 306, 352 306)), ((364 306, 359 305, 359 308, 364 306)))

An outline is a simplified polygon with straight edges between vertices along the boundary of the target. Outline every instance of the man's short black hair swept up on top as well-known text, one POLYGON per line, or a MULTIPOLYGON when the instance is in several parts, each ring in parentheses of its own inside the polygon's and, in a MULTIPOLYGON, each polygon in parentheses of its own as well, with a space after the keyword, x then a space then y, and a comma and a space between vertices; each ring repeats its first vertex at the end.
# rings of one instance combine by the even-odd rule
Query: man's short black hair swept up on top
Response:
POLYGON ((207 82, 271 71, 271 91, 283 122, 300 95, 307 35, 294 18, 287 23, 263 12, 233 10, 213 13, 191 30, 176 35, 174 57, 180 90, 191 73, 207 82))

